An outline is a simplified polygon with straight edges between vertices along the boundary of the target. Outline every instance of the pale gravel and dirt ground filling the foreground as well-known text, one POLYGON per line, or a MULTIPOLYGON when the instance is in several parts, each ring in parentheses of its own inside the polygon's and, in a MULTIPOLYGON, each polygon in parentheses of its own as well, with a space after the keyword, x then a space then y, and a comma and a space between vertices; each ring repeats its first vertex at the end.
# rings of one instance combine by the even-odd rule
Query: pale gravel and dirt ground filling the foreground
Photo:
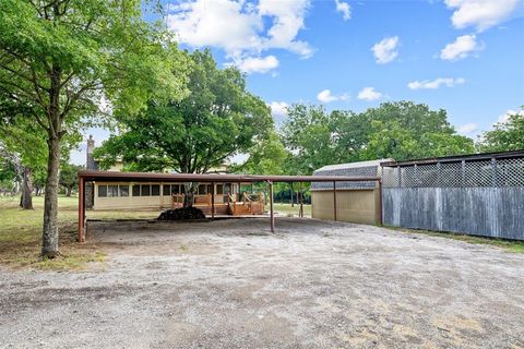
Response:
POLYGON ((524 347, 524 255, 276 222, 91 222, 103 265, 0 269, 0 347, 524 347))

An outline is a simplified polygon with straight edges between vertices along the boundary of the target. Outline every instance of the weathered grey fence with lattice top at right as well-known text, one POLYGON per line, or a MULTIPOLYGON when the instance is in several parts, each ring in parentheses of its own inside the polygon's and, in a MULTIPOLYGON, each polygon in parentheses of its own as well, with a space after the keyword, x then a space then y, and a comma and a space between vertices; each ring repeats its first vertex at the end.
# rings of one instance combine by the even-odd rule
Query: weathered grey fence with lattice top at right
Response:
POLYGON ((524 240, 524 152, 382 166, 384 225, 524 240))

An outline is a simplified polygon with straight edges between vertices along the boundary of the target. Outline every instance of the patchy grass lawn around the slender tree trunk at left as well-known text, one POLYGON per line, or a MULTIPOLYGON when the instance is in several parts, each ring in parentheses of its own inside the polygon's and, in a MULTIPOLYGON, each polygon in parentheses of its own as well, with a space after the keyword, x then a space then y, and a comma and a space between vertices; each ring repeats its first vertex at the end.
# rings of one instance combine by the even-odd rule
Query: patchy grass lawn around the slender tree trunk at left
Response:
MULTIPOLYGON (((39 256, 44 197, 33 197, 34 209, 28 210, 19 207, 19 200, 20 196, 0 196, 0 264, 38 269, 82 269, 88 262, 104 261, 104 254, 94 243, 76 243, 78 197, 60 196, 58 200, 61 255, 53 260, 39 256)), ((86 214, 87 218, 94 219, 154 218, 158 215, 156 212, 114 210, 88 210, 86 214)))

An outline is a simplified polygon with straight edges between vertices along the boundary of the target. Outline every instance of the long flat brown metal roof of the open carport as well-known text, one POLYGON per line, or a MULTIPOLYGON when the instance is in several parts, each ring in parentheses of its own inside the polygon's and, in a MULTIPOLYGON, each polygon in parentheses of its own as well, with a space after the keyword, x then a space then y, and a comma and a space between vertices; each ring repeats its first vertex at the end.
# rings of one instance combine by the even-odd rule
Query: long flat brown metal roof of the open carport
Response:
POLYGON ((79 177, 86 181, 134 181, 134 182, 360 182, 380 181, 379 177, 348 176, 262 176, 262 174, 196 174, 196 173, 153 173, 118 171, 79 171, 79 177))

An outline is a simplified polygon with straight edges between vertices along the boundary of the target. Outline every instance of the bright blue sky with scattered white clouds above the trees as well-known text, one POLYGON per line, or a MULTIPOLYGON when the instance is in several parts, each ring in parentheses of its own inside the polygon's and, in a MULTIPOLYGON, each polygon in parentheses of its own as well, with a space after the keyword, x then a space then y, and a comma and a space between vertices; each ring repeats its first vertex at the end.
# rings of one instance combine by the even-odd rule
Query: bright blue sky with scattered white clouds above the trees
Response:
MULTIPOLYGON (((293 103, 443 108, 476 137, 524 105, 524 1, 189 0, 166 3, 180 47, 210 47, 278 122, 293 103)), ((91 130, 99 144, 104 130, 91 130)), ((72 160, 83 164, 83 152, 72 160)))

